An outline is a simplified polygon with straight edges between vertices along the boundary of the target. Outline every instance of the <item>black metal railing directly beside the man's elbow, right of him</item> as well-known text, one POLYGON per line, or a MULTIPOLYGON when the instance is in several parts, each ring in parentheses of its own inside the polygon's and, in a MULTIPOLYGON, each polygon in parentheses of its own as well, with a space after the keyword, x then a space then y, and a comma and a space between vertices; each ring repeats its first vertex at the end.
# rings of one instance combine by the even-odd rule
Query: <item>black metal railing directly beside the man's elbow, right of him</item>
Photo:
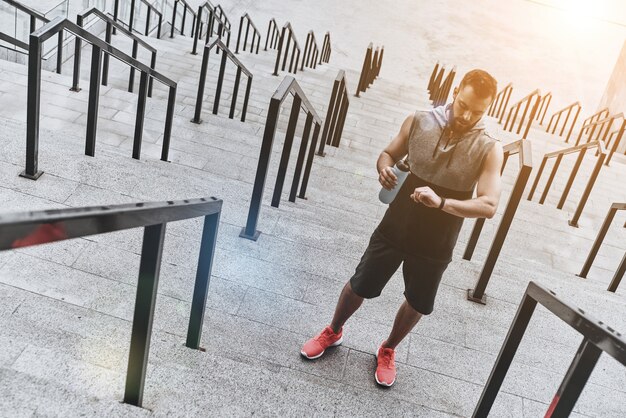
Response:
MULTIPOLYGON (((472 302, 478 302, 483 305, 486 303, 487 299, 485 295, 485 290, 487 289, 487 285, 489 284, 489 279, 491 278, 493 269, 495 268, 498 257, 500 256, 500 251, 502 250, 502 246, 504 245, 504 241, 506 240, 506 236, 511 227, 511 223, 513 222, 513 218, 515 217, 515 213, 517 212, 519 202, 520 200, 522 200, 524 189, 528 184, 530 172, 533 168, 532 148, 529 140, 520 139, 518 141, 512 142, 506 145, 503 150, 504 161, 502 163, 502 169, 500 171, 500 174, 504 172, 509 157, 515 154, 519 155, 519 171, 517 173, 517 178, 515 179, 509 201, 504 208, 504 213, 502 214, 500 225, 498 225, 496 235, 493 238, 493 242, 491 243, 491 247, 489 248, 489 252, 487 253, 487 259, 485 260, 485 264, 483 265, 480 275, 478 276, 478 281, 476 282, 474 289, 467 290, 468 300, 472 302)), ((474 228, 472 229, 472 233, 467 242, 467 246, 465 247, 465 253, 463 254, 463 258, 465 260, 472 259, 474 249, 476 248, 476 244, 478 242, 478 238, 480 237, 484 224, 485 218, 478 218, 474 223, 474 228)))

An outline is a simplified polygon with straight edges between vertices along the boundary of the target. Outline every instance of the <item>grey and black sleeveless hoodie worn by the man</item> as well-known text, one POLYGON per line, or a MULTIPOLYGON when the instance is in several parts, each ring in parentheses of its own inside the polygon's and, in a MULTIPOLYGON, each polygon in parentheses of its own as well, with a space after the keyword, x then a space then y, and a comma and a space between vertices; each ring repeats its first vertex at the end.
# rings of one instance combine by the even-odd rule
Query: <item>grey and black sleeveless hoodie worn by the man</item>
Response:
POLYGON ((471 199, 485 157, 495 139, 481 121, 461 137, 449 135, 449 106, 415 113, 409 137, 406 178, 377 231, 407 256, 446 264, 463 225, 463 218, 415 203, 410 195, 428 186, 439 196, 471 199))

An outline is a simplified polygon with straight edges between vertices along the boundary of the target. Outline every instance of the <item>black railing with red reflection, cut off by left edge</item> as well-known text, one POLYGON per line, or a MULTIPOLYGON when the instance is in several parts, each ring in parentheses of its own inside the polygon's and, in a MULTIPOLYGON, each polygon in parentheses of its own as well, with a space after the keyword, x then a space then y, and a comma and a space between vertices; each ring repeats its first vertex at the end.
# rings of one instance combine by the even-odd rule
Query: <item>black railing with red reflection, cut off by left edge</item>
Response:
POLYGON ((0 215, 0 251, 144 228, 124 390, 125 403, 141 406, 165 227, 168 222, 204 217, 186 341, 187 347, 199 349, 221 210, 222 201, 211 197, 0 215))

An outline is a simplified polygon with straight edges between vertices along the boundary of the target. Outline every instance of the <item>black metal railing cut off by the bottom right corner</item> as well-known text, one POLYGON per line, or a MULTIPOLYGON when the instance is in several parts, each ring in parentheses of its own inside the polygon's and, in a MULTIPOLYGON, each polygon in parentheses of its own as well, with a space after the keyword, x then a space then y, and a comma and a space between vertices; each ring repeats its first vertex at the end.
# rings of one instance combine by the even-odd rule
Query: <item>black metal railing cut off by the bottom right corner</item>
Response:
POLYGON ((583 336, 583 341, 565 373, 546 417, 560 418, 570 415, 602 352, 626 366, 626 340, 622 334, 591 317, 584 310, 563 301, 553 291, 544 289, 531 281, 517 308, 515 319, 509 328, 472 417, 489 416, 537 303, 543 305, 583 336))

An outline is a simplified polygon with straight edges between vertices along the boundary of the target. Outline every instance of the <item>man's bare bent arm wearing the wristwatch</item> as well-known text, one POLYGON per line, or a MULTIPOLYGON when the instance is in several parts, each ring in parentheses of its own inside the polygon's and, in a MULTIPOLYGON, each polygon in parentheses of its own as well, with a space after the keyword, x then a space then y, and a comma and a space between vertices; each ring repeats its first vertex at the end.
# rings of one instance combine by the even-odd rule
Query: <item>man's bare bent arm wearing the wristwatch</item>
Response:
MULTIPOLYGON (((496 142, 487 155, 485 165, 478 178, 476 197, 469 200, 446 199, 442 210, 462 218, 492 218, 500 201, 502 190, 500 170, 503 160, 502 145, 496 142)), ((416 202, 429 207, 437 208, 441 204, 441 197, 430 187, 418 187, 411 197, 416 202)))

